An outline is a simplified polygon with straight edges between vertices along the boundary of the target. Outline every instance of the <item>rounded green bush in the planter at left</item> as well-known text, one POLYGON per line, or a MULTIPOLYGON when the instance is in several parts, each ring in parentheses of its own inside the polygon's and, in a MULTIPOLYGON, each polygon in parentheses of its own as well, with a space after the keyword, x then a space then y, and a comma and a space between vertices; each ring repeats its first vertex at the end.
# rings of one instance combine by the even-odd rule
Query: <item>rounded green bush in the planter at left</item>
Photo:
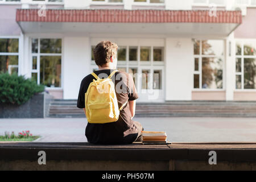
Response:
POLYGON ((44 85, 38 85, 31 78, 16 73, 0 73, 0 103, 22 105, 35 93, 43 92, 44 85))

